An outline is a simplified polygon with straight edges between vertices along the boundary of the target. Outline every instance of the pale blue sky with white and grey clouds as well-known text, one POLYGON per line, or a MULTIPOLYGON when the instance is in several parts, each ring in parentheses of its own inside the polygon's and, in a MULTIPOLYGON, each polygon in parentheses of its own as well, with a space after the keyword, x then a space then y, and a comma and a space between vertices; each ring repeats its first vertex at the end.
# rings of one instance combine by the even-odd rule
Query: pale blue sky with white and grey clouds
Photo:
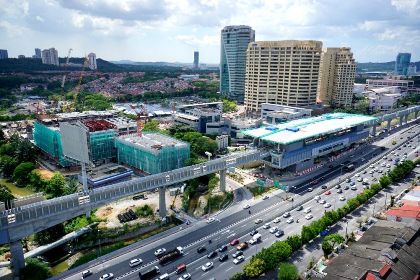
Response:
POLYGON ((248 25, 256 41, 320 40, 358 62, 420 61, 420 0, 0 0, 0 49, 56 48, 108 61, 220 62, 220 31, 248 25))

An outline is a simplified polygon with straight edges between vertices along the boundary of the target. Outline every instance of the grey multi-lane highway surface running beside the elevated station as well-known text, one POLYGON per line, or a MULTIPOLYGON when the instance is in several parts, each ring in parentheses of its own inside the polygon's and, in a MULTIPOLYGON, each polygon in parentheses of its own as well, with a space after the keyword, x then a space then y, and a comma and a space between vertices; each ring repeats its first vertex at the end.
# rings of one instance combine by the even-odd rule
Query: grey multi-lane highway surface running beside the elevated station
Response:
MULTIPOLYGON (((414 159, 414 154, 417 150, 416 148, 413 149, 412 147, 401 146, 400 150, 396 150, 396 147, 402 144, 402 141, 407 142, 407 144, 409 143, 410 145, 420 145, 420 138, 415 138, 415 136, 420 132, 418 125, 409 123, 409 127, 412 127, 415 133, 408 133, 407 126, 396 128, 391 131, 390 136, 388 136, 387 133, 382 134, 384 139, 377 137, 377 140, 372 144, 366 145, 362 149, 353 152, 353 156, 349 154, 340 160, 334 161, 332 163, 335 165, 334 168, 328 169, 328 167, 325 167, 325 170, 320 175, 314 177, 315 180, 319 180, 320 177, 325 177, 325 180, 320 181, 318 184, 312 185, 312 182, 310 181, 296 184, 296 194, 293 202, 283 200, 283 197, 285 196, 283 191, 270 193, 269 199, 267 200, 262 200, 261 198, 256 200, 238 200, 238 203, 228 208, 228 210, 214 216, 216 221, 213 223, 207 224, 205 221, 199 221, 187 229, 156 240, 141 248, 130 250, 119 256, 114 256, 103 263, 97 263, 94 266, 91 265, 89 269, 91 269, 94 274, 85 277, 85 279, 98 279, 105 273, 113 273, 115 278, 118 279, 138 279, 138 271, 145 269, 148 265, 158 265, 161 268, 161 273, 167 272, 170 274, 172 279, 176 279, 180 275, 176 275, 173 272, 174 268, 182 263, 186 264, 187 269, 185 273, 190 273, 192 279, 209 279, 211 277, 215 277, 216 279, 226 279, 235 272, 242 271, 242 265, 249 261, 251 256, 261 250, 262 247, 269 246, 277 239, 284 240, 288 235, 300 233, 302 225, 307 225, 312 220, 321 217, 325 210, 341 207, 346 203, 346 200, 340 201, 338 199, 341 195, 344 195, 346 198, 350 198, 354 197, 357 193, 360 193, 360 191, 363 190, 363 185, 361 182, 358 182, 357 177, 354 176, 354 174, 360 173, 360 170, 366 170, 366 174, 360 173, 361 178, 367 178, 369 183, 372 184, 374 183, 372 179, 378 179, 382 174, 375 171, 373 171, 373 174, 370 174, 369 171, 374 170, 374 168, 369 168, 371 164, 378 169, 383 169, 383 172, 385 172, 387 167, 381 166, 382 162, 385 162, 385 165, 389 164, 390 169, 395 166, 393 161, 388 161, 388 158, 392 158, 392 160, 394 160, 396 157, 399 157, 402 159, 404 152, 406 152, 408 159, 414 159), (408 135, 411 139, 407 139, 408 135), (403 139, 400 139, 400 137, 403 137, 403 139), (397 141, 396 145, 392 145, 393 140, 397 141), (412 140, 413 142, 408 142, 409 140, 412 140), (384 151, 380 149, 382 146, 386 148, 384 151), (397 151, 399 156, 390 154, 393 150, 397 151), (363 154, 361 154, 362 152, 363 154), (374 152, 376 155, 373 155, 374 152), (387 156, 387 159, 382 159, 384 155, 387 156), (364 161, 361 161, 362 158, 364 161), (377 161, 379 161, 379 164, 376 164, 377 161), (350 163, 355 164, 356 169, 351 173, 346 173, 344 168, 342 168, 340 164, 337 165, 336 162, 343 163, 344 165, 348 165, 350 163), (351 178, 351 181, 355 183, 357 189, 351 190, 349 188, 344 190, 344 186, 350 186, 350 183, 341 182, 341 189, 343 189, 343 193, 338 194, 334 185, 339 182, 339 178, 343 181, 347 177, 351 178), (328 188, 325 190, 321 189, 322 185, 327 185, 328 188), (312 187, 314 190, 312 192, 308 192, 307 189, 309 187, 312 187), (326 203, 331 204, 329 208, 325 208, 325 204, 318 203, 313 199, 313 197, 319 192, 324 192, 328 189, 331 190, 330 195, 321 194, 321 199, 324 199, 326 200, 326 203), (313 218, 309 220, 305 219, 306 213, 304 213, 303 210, 297 211, 293 209, 290 210, 290 212, 294 221, 288 224, 286 222, 287 218, 282 217, 282 214, 289 210, 292 207, 292 204, 295 208, 296 205, 301 204, 301 201, 304 200, 309 200, 302 206, 303 208, 311 207, 310 213, 313 215, 313 218), (243 205, 245 204, 251 205, 251 214, 248 214, 248 210, 243 209, 243 205), (275 224, 272 220, 277 216, 281 217, 281 221, 275 224), (254 221, 258 218, 263 219, 263 222, 257 225, 254 221), (299 223, 296 222, 297 219, 299 219, 299 223), (269 229, 262 228, 266 222, 270 222, 271 227, 278 226, 280 229, 284 230, 285 234, 282 237, 277 238, 274 234, 269 232, 269 229), (228 245, 228 251, 225 252, 229 253, 229 258, 223 262, 218 259, 222 253, 218 253, 218 256, 215 256, 212 259, 208 259, 206 257, 208 252, 216 250, 221 244, 228 244, 234 238, 238 238, 241 242, 249 241, 249 239, 251 239, 249 232, 252 229, 258 229, 259 233, 262 234, 262 241, 255 245, 251 245, 249 248, 244 250, 245 261, 242 263, 233 263, 232 253, 236 251, 236 245, 228 245), (211 244, 208 243, 208 239, 210 238, 213 240, 211 244), (207 250, 198 254, 197 248, 201 245, 205 245, 207 250), (170 250, 176 246, 184 247, 184 255, 165 265, 160 265, 153 252, 158 248, 170 250), (142 265, 131 268, 128 265, 128 262, 133 258, 141 258, 143 260, 142 265), (214 267, 207 271, 202 271, 201 266, 207 261, 212 261, 214 263, 214 267)), ((245 197, 246 195, 243 196, 243 198, 245 197)), ((78 272, 73 275, 63 274, 62 279, 80 279, 80 271, 86 268, 87 267, 80 268, 78 272)))

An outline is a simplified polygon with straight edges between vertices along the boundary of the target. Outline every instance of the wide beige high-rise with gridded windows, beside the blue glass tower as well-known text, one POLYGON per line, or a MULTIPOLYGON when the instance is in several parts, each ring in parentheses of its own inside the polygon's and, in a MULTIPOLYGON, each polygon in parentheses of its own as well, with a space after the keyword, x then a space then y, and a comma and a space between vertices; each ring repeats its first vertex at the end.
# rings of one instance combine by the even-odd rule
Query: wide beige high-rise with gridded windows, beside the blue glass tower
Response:
POLYGON ((316 103, 321 41, 251 42, 245 71, 245 110, 261 115, 261 103, 316 103))

